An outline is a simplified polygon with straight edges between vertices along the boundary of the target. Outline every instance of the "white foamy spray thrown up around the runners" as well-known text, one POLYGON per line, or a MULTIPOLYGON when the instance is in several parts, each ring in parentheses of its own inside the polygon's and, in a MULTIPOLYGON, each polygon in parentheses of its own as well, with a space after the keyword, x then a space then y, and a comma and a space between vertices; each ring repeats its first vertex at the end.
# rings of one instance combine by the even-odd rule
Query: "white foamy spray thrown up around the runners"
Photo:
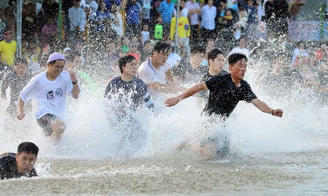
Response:
MULTIPOLYGON (((209 126, 202 108, 190 97, 177 106, 165 108, 162 99, 155 102, 157 115, 148 108, 136 111, 140 126, 129 123, 129 119, 117 119, 112 109, 107 112, 104 100, 88 89, 84 89, 78 100, 69 99, 66 115, 66 131, 61 142, 53 146, 37 125, 34 111, 26 114, 23 121, 5 114, 9 99, 0 100, 0 151, 16 151, 23 141, 34 142, 40 155, 48 158, 120 158, 147 157, 170 153, 186 139, 199 142, 210 135, 231 135, 232 149, 238 153, 308 151, 327 148, 328 106, 320 103, 316 96, 306 95, 305 90, 296 89, 290 97, 271 97, 261 88, 259 70, 249 68, 245 80, 253 91, 272 108, 284 110, 278 118, 259 111, 252 104, 240 102, 231 117, 224 123, 209 126), (121 146, 122 129, 142 129, 147 133, 146 145, 138 151, 121 146), (133 153, 129 153, 133 152, 133 153)), ((105 81, 104 81, 105 83, 105 81)), ((188 86, 192 86, 191 84, 188 86)), ((101 86, 101 89, 104 89, 101 86)), ((172 94, 166 95, 167 97, 172 94)), ((9 98, 9 90, 7 90, 9 98)), ((34 106, 36 103, 33 103, 34 106)), ((115 107, 115 102, 110 102, 115 107)))

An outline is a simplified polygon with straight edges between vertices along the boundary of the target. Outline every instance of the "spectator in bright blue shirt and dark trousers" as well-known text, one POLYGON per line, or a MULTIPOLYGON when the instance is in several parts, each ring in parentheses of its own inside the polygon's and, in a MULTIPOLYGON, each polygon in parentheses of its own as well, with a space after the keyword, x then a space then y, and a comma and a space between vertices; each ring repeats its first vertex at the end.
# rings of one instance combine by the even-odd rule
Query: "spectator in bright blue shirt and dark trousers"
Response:
POLYGON ((170 35, 171 18, 174 10, 174 3, 171 0, 164 0, 158 8, 163 19, 163 38, 167 40, 170 35))

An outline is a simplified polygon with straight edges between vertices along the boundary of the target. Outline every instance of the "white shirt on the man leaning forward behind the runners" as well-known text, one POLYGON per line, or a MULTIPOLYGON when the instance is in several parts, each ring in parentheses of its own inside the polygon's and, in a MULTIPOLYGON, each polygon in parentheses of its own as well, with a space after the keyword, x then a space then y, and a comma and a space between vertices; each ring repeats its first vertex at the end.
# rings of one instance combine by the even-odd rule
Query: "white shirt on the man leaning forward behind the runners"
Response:
POLYGON ((170 69, 169 64, 160 66, 159 69, 155 69, 152 66, 151 60, 147 60, 139 66, 138 75, 141 80, 146 84, 159 82, 166 84, 166 72, 170 69))

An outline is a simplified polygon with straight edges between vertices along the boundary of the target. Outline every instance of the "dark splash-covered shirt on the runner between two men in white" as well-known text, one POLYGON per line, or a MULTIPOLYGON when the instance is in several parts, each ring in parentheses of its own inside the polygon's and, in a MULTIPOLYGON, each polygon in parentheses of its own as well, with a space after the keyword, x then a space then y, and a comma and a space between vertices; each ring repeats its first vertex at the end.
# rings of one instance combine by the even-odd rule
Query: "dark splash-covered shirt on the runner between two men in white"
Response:
POLYGON ((130 97, 130 106, 133 110, 136 110, 140 105, 141 100, 145 101, 147 107, 153 108, 154 104, 148 93, 147 87, 147 84, 137 77, 134 77, 130 82, 125 82, 120 76, 118 76, 107 85, 105 97, 112 99, 113 94, 118 94, 118 101, 123 104, 130 103, 128 99, 130 97))

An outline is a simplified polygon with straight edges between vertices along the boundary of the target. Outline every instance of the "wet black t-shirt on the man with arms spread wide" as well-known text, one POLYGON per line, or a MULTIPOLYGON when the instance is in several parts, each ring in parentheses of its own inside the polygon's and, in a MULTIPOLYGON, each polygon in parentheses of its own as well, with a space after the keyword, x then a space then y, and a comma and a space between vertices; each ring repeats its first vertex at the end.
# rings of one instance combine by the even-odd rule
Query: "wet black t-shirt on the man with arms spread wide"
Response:
POLYGON ((209 101, 204 108, 204 112, 208 115, 228 117, 239 101, 250 103, 257 98, 246 81, 240 80, 241 86, 236 87, 230 73, 218 74, 205 83, 210 90, 209 101))

